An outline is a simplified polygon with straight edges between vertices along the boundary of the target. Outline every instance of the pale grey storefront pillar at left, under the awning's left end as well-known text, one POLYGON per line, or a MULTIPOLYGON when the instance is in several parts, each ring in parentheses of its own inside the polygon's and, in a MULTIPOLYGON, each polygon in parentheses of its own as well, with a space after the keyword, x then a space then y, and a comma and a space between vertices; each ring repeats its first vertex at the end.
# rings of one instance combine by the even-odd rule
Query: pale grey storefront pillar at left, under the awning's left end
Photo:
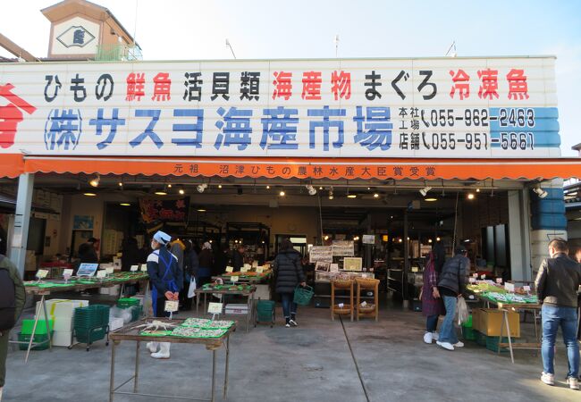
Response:
POLYGON ((21 174, 18 179, 18 196, 16 198, 16 213, 14 214, 13 240, 9 255, 11 261, 18 268, 21 277, 24 277, 24 264, 26 262, 26 247, 29 239, 33 189, 34 174, 21 174))

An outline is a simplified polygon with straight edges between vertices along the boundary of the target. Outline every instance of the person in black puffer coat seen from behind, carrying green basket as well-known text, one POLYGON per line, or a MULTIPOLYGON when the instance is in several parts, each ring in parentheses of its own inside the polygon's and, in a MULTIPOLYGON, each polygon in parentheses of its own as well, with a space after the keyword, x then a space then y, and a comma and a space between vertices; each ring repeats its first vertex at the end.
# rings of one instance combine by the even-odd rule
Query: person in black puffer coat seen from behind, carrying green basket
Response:
POLYGON ((276 293, 281 295, 282 313, 287 328, 299 325, 297 323, 297 304, 292 301, 297 285, 306 286, 305 272, 300 262, 301 256, 292 247, 289 239, 284 239, 279 247, 279 253, 274 258, 276 271, 276 293))

